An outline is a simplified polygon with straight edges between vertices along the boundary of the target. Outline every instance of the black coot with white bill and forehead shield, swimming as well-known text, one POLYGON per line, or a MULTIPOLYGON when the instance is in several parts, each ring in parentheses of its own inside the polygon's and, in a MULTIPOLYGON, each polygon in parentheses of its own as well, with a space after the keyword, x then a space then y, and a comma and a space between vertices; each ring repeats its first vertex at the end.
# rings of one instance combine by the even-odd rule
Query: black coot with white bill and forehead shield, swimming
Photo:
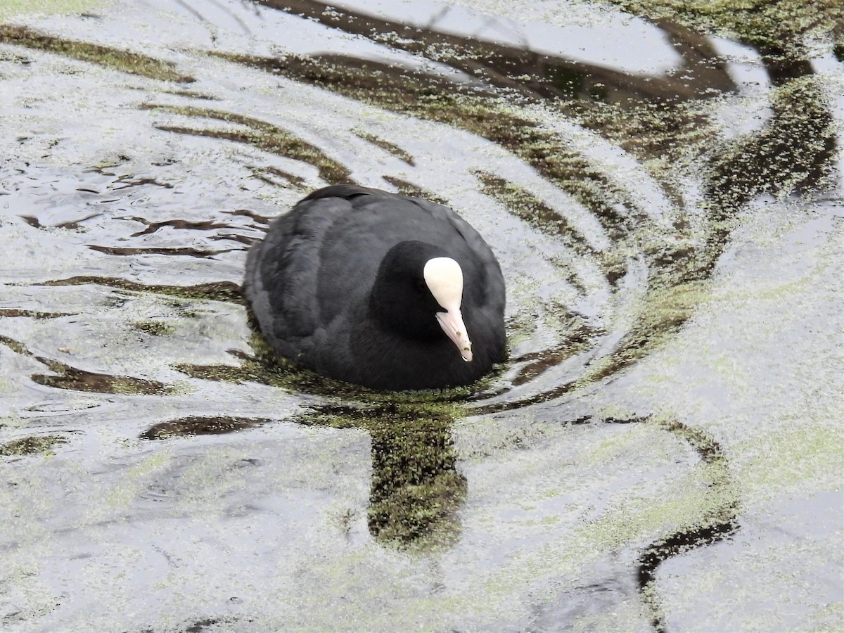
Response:
POLYGON ((504 279, 452 209, 354 185, 273 221, 246 260, 267 342, 297 365, 384 390, 468 385, 504 360, 504 279))

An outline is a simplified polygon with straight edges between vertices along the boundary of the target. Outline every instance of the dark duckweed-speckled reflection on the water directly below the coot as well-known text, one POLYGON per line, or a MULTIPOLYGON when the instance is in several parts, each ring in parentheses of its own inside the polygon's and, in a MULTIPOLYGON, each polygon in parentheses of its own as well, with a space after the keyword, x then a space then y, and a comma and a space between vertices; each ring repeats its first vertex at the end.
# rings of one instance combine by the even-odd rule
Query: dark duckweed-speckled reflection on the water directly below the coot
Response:
POLYGON ((277 357, 259 334, 253 334, 252 347, 255 356, 231 352, 241 360, 240 367, 174 368, 195 378, 258 381, 328 398, 331 404, 312 407, 292 421, 357 428, 370 434, 373 475, 368 522, 372 535, 403 549, 441 547, 457 538, 456 513, 466 495, 466 480, 457 471, 451 425, 472 392, 470 387, 373 392, 295 367, 277 357))

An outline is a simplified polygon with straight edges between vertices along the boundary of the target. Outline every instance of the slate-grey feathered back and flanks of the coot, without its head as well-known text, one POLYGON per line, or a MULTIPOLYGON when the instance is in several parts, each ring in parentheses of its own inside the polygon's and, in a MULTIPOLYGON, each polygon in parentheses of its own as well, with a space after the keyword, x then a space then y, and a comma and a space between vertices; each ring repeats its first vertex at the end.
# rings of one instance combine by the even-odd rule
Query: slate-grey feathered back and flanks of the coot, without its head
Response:
MULTIPOLYGON (((407 240, 454 253, 472 281, 464 301, 477 317, 503 313, 498 262, 451 209, 365 187, 325 187, 275 220, 249 252, 244 290, 268 343, 309 369, 366 384, 354 374, 371 371, 366 363, 389 362, 379 342, 368 340, 378 334, 369 322, 371 289, 381 259, 407 240)), ((503 353, 503 339, 498 346, 503 353)))

